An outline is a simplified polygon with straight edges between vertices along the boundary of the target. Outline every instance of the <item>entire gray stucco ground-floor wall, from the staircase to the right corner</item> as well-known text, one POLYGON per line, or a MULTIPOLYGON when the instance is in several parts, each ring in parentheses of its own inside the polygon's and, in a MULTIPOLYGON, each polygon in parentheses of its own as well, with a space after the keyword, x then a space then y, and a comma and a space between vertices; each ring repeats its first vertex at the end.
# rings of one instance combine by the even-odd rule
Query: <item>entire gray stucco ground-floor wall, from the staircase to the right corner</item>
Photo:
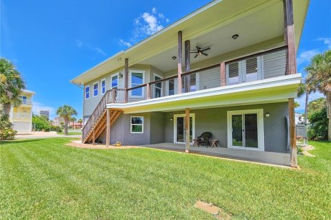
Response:
MULTIPOLYGON (((285 124, 285 116, 288 115, 288 102, 192 110, 190 113, 195 113, 195 136, 209 131, 213 138, 219 139, 220 146, 227 147, 227 111, 243 109, 263 109, 265 151, 288 152, 285 124), (267 112, 270 113, 268 118, 265 117, 267 112)), ((122 113, 110 129, 110 143, 121 141, 124 145, 142 145, 174 142, 174 120, 170 119, 174 118, 174 114, 182 113, 184 111, 122 113), (143 116, 143 133, 130 133, 130 116, 143 116)), ((105 142, 104 135, 100 140, 105 142)))

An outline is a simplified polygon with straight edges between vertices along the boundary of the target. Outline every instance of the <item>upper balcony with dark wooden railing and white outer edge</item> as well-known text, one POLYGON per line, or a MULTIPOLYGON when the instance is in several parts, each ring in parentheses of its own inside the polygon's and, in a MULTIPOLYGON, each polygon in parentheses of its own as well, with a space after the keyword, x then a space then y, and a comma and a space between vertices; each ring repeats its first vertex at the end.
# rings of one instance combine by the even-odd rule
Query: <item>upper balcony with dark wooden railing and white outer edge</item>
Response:
POLYGON ((177 75, 128 89, 110 89, 107 104, 108 107, 121 109, 149 107, 156 102, 172 102, 175 105, 177 101, 211 106, 206 100, 214 97, 214 104, 220 104, 219 100, 226 100, 225 96, 232 94, 234 101, 236 93, 240 96, 252 95, 245 98, 247 101, 250 98, 259 100, 258 96, 268 93, 277 100, 284 100, 295 96, 294 91, 300 83, 298 74, 288 76, 287 50, 285 45, 185 72, 180 78, 181 89, 178 89, 177 75), (259 94, 254 95, 254 92, 259 94), (279 94, 284 96, 277 96, 279 94), (201 101, 201 97, 204 100, 202 98, 201 101))

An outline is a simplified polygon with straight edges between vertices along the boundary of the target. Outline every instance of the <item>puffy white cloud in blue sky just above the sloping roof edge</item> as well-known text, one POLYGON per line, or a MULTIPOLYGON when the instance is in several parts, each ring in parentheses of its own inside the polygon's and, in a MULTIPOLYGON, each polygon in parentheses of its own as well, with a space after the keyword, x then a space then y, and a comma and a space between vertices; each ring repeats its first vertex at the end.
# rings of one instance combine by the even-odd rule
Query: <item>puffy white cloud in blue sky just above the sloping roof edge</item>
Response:
POLYGON ((134 29, 132 38, 128 41, 119 39, 119 44, 130 47, 134 43, 162 30, 165 23, 170 20, 164 14, 157 11, 157 8, 152 8, 151 12, 143 12, 139 17, 134 19, 134 29))

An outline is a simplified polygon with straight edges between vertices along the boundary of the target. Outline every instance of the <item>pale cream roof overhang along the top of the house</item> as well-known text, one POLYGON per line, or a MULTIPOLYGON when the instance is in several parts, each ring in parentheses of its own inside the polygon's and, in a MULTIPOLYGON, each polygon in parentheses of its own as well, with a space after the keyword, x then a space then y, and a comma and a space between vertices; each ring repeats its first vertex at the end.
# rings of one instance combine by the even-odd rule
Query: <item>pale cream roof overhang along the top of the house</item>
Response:
MULTIPOLYGON (((293 0, 294 33, 297 48, 299 47, 309 1, 310 0, 293 0)), ((177 32, 180 30, 183 32, 183 41, 186 39, 195 39, 203 34, 208 34, 225 25, 234 23, 239 19, 248 17, 250 14, 254 14, 254 12, 259 12, 282 2, 282 0, 212 1, 127 50, 114 54, 114 56, 92 67, 83 74, 70 80, 70 82, 84 85, 95 78, 99 78, 116 69, 123 68, 124 58, 129 58, 129 65, 134 65, 141 61, 146 61, 146 59, 156 56, 157 54, 166 52, 176 47, 177 32)), ((283 17, 281 17, 281 19, 283 19, 283 17)), ((263 19, 263 21, 267 22, 268 19, 263 19)), ((261 32, 263 31, 264 30, 261 30, 261 32)))

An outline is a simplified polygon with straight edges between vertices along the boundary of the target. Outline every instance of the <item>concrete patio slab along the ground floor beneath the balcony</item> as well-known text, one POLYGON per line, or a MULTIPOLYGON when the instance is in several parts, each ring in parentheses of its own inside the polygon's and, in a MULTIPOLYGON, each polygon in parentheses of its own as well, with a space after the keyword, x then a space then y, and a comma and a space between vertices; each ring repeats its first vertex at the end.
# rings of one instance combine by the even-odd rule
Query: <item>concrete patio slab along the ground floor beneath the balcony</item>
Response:
MULTIPOLYGON (((141 145, 147 148, 161 149, 166 151, 185 152, 185 144, 160 143, 141 145)), ((238 159, 248 162, 272 164, 279 166, 291 166, 290 153, 277 153, 268 151, 249 151, 225 147, 190 146, 190 153, 199 155, 209 155, 227 159, 238 159)))

